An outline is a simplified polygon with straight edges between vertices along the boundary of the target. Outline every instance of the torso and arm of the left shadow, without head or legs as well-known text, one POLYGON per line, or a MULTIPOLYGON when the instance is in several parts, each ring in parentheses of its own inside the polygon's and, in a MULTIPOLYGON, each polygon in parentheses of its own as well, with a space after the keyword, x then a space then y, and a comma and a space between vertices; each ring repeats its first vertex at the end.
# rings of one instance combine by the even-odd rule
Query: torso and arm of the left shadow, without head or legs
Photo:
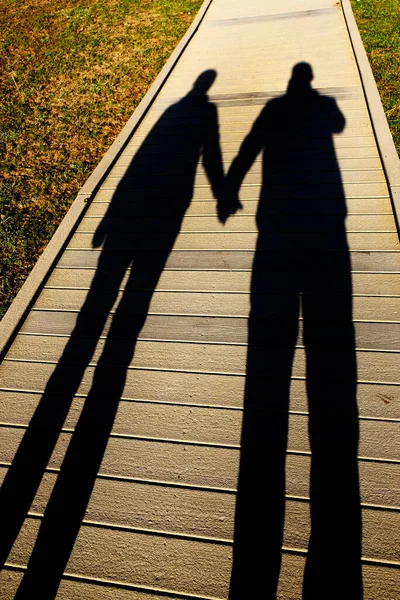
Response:
POLYGON ((216 107, 205 94, 192 92, 162 114, 138 148, 94 245, 105 234, 104 251, 124 250, 132 258, 166 251, 192 200, 200 158, 211 186, 221 186, 216 107))

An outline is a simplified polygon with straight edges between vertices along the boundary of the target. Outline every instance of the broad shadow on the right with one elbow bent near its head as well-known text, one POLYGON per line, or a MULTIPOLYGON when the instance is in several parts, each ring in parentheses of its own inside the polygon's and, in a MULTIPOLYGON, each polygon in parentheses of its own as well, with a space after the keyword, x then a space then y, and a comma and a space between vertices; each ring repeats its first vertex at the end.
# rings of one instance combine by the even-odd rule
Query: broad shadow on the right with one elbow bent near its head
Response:
POLYGON ((300 309, 312 452, 303 599, 362 598, 352 283, 333 144, 345 119, 312 78, 297 64, 286 94, 266 104, 228 173, 233 209, 219 210, 222 220, 234 212, 263 151, 230 600, 277 594, 300 309))

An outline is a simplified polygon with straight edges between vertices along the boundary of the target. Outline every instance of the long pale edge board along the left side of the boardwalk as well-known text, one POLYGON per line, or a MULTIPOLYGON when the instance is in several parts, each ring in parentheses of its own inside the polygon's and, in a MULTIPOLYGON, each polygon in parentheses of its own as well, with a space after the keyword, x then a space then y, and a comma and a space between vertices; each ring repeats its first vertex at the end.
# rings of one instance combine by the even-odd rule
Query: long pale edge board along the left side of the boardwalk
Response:
POLYGON ((172 52, 160 73, 146 92, 132 116, 107 150, 99 164, 80 188, 67 214, 39 257, 11 306, 0 321, 0 362, 9 349, 27 313, 41 292, 52 268, 64 251, 73 231, 83 217, 90 200, 99 189, 108 172, 115 164, 124 147, 135 133, 141 121, 164 86, 176 63, 189 45, 202 23, 213 0, 204 0, 191 26, 172 52))

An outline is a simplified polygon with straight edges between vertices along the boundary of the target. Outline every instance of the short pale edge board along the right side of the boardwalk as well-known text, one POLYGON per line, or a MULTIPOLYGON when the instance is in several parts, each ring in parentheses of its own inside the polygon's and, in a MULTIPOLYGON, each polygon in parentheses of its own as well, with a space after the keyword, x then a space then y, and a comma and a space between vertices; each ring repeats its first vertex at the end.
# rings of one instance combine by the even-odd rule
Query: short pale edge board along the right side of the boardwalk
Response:
POLYGON ((350 0, 341 0, 343 16, 353 47, 378 151, 389 187, 397 231, 400 233, 400 159, 390 133, 371 65, 354 17, 350 0))

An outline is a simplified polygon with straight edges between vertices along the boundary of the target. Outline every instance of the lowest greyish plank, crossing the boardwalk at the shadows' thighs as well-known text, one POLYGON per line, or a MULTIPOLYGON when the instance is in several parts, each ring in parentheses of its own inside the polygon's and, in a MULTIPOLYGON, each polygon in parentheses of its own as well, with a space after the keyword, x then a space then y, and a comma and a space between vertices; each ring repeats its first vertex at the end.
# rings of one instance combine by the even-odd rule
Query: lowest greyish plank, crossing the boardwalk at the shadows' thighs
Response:
MULTIPOLYGON (((46 311, 35 310, 30 313, 24 325, 21 328, 21 333, 29 334, 50 334, 50 335, 67 335, 73 333, 74 327, 77 324, 79 312, 65 311, 46 311)), ((121 344, 129 340, 131 331, 135 331, 137 327, 137 319, 129 318, 129 313, 125 313, 123 322, 119 328, 114 324, 113 334, 116 338, 121 339, 121 344)), ((268 320, 260 318, 254 323, 255 327, 259 327, 260 333, 257 338, 257 343, 269 345, 273 344, 274 348, 279 348, 281 336, 283 332, 288 332, 296 327, 296 322, 293 324, 287 315, 285 305, 276 305, 270 308, 263 317, 268 317, 268 320), (288 323, 289 320, 289 324, 288 323), (268 336, 268 337, 266 337, 268 336)), ((348 322, 341 321, 343 315, 329 315, 325 318, 321 315, 316 315, 315 321, 307 321, 309 335, 313 336, 314 344, 321 350, 325 348, 348 348, 349 343, 342 340, 347 340, 348 322), (310 323, 313 323, 311 325, 310 323), (311 328, 314 328, 311 330, 311 328), (326 331, 326 338, 321 340, 317 335, 315 328, 319 331, 326 331)), ((112 323, 112 318, 108 317, 103 335, 108 335, 112 323)), ((84 322, 81 323, 81 336, 93 335, 98 328, 98 317, 92 312, 85 315, 84 322)), ((303 321, 298 323, 298 343, 302 344, 303 336, 303 321)), ((355 346, 358 349, 372 350, 397 350, 400 351, 400 322, 398 323, 373 323, 373 322, 354 322, 355 330, 355 346)), ((189 315, 148 315, 145 324, 140 330, 139 340, 167 340, 167 341, 191 341, 191 342, 211 342, 222 344, 246 344, 248 338, 248 319, 247 317, 218 317, 218 316, 189 316, 189 315)), ((283 337, 285 345, 286 340, 283 337)), ((128 342, 126 342, 128 344, 128 342)), ((312 342, 311 342, 312 343, 312 342)), ((264 351, 260 351, 263 352, 264 351)))

